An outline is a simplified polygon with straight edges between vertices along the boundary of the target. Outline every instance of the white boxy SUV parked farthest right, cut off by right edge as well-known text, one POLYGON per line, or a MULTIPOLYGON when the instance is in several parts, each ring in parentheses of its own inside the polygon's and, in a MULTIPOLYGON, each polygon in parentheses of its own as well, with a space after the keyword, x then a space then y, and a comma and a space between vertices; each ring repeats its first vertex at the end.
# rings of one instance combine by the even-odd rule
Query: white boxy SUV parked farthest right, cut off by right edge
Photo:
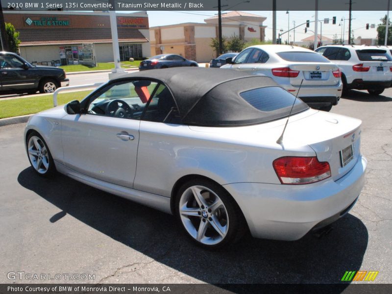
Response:
POLYGON ((342 70, 343 92, 368 90, 380 95, 392 84, 392 56, 376 46, 328 45, 316 49, 342 70))

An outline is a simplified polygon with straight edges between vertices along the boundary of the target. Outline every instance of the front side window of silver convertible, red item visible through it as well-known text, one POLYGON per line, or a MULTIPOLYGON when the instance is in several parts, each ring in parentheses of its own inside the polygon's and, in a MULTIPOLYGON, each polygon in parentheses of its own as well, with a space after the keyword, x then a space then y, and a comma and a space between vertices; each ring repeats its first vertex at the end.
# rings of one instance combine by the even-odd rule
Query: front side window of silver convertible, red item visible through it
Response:
POLYGON ((90 99, 87 114, 139 120, 157 84, 148 80, 112 84, 90 99))

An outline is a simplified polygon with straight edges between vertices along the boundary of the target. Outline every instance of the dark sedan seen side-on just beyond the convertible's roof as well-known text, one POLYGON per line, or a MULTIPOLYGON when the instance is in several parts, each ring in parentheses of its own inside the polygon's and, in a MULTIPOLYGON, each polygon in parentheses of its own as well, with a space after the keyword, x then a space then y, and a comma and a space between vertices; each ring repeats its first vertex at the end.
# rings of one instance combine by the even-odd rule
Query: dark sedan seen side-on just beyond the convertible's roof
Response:
POLYGON ((185 59, 176 54, 160 54, 143 60, 139 65, 139 71, 152 69, 167 69, 171 67, 199 66, 196 61, 185 59))

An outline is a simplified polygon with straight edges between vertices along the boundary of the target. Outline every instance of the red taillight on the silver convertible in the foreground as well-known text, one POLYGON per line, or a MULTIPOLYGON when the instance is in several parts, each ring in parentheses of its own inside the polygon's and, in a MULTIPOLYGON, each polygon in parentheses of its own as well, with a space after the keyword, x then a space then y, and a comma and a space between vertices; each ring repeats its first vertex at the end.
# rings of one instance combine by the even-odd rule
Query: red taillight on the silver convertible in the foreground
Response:
POLYGON ((282 184, 310 184, 331 176, 329 163, 319 162, 316 156, 285 156, 275 159, 272 165, 282 184))

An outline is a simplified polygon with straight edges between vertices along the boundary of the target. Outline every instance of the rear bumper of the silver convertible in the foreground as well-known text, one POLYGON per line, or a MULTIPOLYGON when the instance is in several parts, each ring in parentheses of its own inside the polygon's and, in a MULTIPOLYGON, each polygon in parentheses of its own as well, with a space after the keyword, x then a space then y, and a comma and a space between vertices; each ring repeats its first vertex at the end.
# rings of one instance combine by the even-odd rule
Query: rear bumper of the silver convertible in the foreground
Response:
POLYGON ((360 156, 339 180, 309 185, 234 183, 223 187, 244 213, 252 236, 294 241, 312 228, 342 217, 354 205, 365 183, 367 160, 360 156))

